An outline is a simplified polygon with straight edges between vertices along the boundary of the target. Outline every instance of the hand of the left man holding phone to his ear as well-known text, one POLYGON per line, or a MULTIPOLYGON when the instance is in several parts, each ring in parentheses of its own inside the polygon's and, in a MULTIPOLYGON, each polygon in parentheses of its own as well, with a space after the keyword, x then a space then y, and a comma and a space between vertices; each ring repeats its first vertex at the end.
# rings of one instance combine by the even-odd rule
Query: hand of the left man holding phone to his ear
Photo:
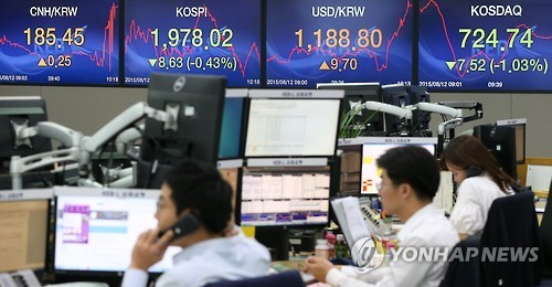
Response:
POLYGON ((169 242, 174 235, 168 231, 161 238, 158 238, 159 230, 149 230, 140 234, 132 248, 132 259, 130 268, 147 272, 151 265, 163 258, 164 252, 169 247, 169 242))

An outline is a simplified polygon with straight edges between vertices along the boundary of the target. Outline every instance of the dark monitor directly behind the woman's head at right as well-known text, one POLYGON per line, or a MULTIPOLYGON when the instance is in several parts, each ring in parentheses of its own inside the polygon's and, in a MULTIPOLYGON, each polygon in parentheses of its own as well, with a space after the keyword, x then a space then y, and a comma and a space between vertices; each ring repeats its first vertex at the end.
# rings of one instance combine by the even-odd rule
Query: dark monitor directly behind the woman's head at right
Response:
POLYGON ((474 127, 474 136, 489 149, 502 170, 514 179, 518 178, 516 134, 513 126, 488 124, 474 127))

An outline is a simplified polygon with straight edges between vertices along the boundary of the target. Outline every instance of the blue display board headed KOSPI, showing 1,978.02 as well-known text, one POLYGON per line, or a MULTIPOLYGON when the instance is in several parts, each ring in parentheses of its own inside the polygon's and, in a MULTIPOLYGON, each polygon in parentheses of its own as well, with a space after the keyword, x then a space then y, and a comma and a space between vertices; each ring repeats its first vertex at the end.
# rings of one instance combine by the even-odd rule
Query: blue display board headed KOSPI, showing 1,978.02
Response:
POLYGON ((225 75, 261 85, 261 1, 125 1, 125 85, 152 72, 225 75))

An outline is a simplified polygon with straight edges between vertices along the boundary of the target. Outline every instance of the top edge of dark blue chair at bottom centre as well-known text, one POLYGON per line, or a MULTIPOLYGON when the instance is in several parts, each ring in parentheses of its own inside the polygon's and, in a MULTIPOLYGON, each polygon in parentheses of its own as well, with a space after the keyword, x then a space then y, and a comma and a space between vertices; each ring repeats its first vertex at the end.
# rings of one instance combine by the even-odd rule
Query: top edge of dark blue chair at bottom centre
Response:
POLYGON ((262 277, 246 278, 240 280, 224 280, 210 283, 204 287, 298 287, 305 286, 301 275, 297 270, 285 270, 262 277))

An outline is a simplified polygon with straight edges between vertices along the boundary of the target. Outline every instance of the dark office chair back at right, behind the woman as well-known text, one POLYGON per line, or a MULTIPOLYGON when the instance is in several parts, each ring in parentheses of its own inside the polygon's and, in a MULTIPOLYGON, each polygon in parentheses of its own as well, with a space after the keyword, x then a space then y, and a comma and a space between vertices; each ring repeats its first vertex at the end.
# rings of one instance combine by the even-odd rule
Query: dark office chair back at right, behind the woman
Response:
MULTIPOLYGON (((495 261, 481 258, 482 286, 534 286, 540 283, 540 258, 532 258, 531 252, 528 252, 524 259, 513 261, 511 255, 512 247, 522 247, 523 252, 526 248, 539 247, 539 224, 533 196, 533 192, 520 192, 492 202, 480 247, 488 251, 506 247, 508 259, 500 262, 498 255, 495 261)), ((499 254, 499 251, 496 253, 499 254)))

